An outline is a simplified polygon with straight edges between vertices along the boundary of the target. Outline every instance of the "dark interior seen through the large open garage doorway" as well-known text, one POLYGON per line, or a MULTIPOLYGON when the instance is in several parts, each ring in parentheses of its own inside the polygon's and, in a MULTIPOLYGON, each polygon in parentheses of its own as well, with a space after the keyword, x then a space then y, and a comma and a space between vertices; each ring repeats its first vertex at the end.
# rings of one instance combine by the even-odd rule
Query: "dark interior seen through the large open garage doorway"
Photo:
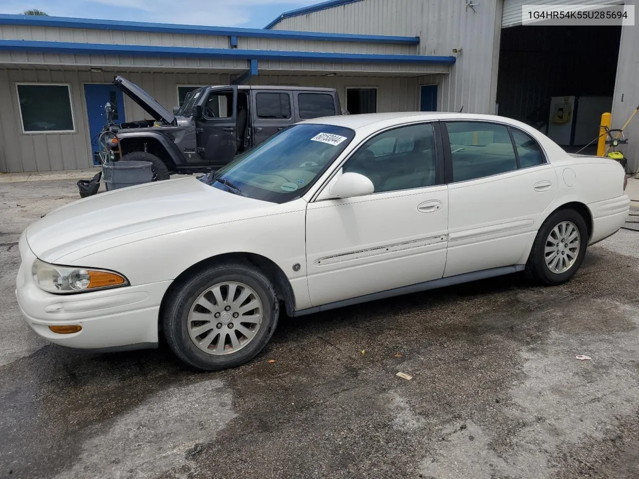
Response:
POLYGON ((535 126, 566 151, 583 148, 612 109, 620 36, 620 26, 503 28, 498 114, 535 126))

